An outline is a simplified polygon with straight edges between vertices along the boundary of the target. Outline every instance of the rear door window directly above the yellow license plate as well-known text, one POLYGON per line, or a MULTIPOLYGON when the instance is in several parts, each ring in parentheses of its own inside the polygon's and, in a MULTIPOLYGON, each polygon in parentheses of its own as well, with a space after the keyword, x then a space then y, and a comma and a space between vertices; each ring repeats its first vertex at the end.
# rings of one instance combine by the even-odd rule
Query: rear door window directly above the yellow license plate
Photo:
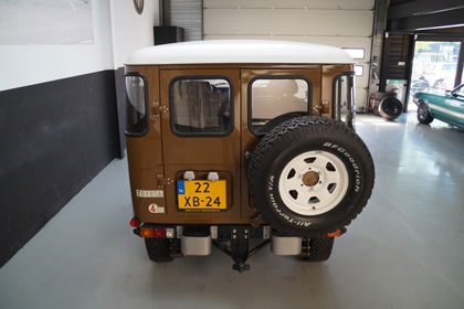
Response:
POLYGON ((223 77, 180 77, 170 84, 171 127, 179 136, 232 130, 232 88, 223 77))

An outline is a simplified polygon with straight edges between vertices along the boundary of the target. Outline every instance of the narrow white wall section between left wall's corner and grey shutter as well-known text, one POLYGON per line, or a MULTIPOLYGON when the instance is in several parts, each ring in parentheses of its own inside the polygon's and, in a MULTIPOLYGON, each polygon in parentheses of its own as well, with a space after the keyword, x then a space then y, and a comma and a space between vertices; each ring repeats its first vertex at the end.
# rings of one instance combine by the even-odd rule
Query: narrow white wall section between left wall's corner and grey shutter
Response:
POLYGON ((141 15, 131 0, 110 0, 114 67, 120 67, 136 50, 154 44, 154 25, 159 22, 158 1, 146 0, 141 15))

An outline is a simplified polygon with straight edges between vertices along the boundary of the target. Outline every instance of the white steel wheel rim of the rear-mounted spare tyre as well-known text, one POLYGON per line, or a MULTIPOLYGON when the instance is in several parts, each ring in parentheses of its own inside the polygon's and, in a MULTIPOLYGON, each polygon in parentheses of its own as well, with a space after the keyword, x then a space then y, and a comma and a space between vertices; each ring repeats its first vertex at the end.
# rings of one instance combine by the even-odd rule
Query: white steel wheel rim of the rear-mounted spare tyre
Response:
POLYGON ((278 193, 291 211, 300 215, 319 215, 341 202, 348 184, 348 170, 337 156, 313 150, 298 154, 284 167, 278 179, 278 193), (317 182, 313 185, 304 183, 308 172, 317 173, 317 182))

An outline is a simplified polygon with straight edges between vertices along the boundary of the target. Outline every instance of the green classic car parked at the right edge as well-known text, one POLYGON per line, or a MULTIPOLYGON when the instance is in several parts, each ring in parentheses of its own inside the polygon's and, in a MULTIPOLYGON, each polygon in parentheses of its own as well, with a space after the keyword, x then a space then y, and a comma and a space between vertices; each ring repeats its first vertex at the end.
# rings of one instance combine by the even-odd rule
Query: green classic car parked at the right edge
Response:
POLYGON ((434 118, 464 129, 464 84, 451 92, 416 93, 418 120, 429 125, 434 118))

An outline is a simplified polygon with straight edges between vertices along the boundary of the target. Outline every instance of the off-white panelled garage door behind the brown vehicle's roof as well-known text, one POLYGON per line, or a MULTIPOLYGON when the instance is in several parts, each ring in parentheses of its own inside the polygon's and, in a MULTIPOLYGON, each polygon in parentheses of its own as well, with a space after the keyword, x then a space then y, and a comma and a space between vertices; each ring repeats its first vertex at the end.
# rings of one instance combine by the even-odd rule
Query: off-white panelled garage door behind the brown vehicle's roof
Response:
POLYGON ((204 40, 273 39, 362 47, 357 106, 367 102, 375 0, 203 1, 204 40))

